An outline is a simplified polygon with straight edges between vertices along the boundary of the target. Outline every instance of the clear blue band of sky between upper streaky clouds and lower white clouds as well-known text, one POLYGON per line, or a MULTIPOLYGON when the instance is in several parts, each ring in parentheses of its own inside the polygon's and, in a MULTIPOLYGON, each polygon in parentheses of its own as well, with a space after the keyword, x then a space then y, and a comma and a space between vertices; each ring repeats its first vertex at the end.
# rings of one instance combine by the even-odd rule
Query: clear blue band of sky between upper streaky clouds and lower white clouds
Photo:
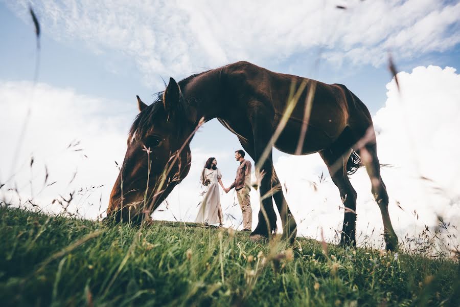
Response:
MULTIPOLYGON (((0 20, 2 45, 14 46, 2 48, 0 51, 0 78, 33 80, 36 47, 33 25, 30 20, 19 18, 5 3, 0 3, 0 20)), ((170 77, 157 73, 156 80, 145 80, 133 59, 123 56, 120 51, 111 50, 97 54, 87 48, 80 39, 65 42, 56 40, 47 32, 45 25, 42 25, 41 49, 39 81, 59 87, 73 87, 77 92, 87 95, 126 103, 135 102, 133 97, 140 95, 146 102, 152 101, 153 93, 164 90, 161 78, 168 80, 170 77), (146 83, 150 83, 150 86, 146 83)), ((317 65, 319 53, 320 48, 293 53, 280 61, 268 62, 264 67, 326 83, 346 84, 366 103, 373 114, 383 106, 386 99, 385 84, 391 80, 386 61, 376 67, 370 64, 333 65, 321 59, 317 65)), ((458 68, 460 46, 456 45, 445 52, 421 53, 408 59, 398 59, 397 54, 394 54, 394 57, 399 71, 430 64, 458 68)), ((241 60, 258 62, 257 58, 241 60)), ((172 77, 179 80, 209 68, 214 67, 196 67, 193 71, 184 71, 172 77)), ((155 75, 155 72, 152 74, 155 75)), ((135 111, 132 114, 135 114, 135 111)))

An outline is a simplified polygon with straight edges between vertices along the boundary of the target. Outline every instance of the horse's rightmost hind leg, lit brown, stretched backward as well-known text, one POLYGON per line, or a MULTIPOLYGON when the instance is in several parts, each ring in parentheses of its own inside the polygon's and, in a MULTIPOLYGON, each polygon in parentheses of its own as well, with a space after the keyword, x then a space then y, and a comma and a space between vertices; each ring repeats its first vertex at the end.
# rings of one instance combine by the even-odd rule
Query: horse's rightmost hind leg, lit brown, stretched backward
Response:
POLYGON ((361 159, 366 167, 367 174, 371 178, 372 194, 379 205, 382 213, 384 238, 387 250, 396 250, 398 247, 398 237, 393 230, 392 221, 388 214, 388 193, 385 184, 380 176, 380 162, 377 157, 377 145, 368 143, 360 150, 361 159))

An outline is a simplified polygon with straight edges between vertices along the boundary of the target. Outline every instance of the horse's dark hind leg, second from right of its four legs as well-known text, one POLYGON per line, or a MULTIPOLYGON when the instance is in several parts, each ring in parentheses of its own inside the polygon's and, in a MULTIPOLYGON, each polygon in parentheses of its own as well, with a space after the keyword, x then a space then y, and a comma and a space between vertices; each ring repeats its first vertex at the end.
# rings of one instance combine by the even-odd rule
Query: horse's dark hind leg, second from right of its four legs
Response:
POLYGON ((356 191, 347 175, 347 161, 350 149, 342 150, 341 146, 332 147, 319 152, 326 163, 332 181, 340 192, 340 197, 345 207, 342 232, 340 235, 341 246, 356 246, 356 191))

